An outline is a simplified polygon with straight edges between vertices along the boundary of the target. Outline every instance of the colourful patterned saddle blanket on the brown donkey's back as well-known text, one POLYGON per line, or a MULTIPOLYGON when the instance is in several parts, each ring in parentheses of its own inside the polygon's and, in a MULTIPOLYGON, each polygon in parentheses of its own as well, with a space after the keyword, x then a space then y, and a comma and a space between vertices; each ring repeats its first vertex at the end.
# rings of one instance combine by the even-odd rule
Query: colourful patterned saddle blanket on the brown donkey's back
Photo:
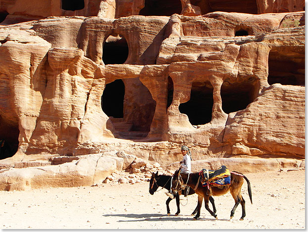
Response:
POLYGON ((224 165, 220 166, 217 170, 202 169, 199 175, 202 176, 201 184, 203 187, 208 185, 208 181, 210 187, 223 187, 231 184, 230 171, 224 165))

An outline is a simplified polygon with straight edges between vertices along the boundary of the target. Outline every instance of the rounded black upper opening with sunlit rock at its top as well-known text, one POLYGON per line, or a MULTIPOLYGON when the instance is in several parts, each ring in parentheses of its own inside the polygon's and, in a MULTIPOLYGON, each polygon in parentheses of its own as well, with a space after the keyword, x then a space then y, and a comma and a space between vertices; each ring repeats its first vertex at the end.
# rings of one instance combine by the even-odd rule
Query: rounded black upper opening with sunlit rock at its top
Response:
POLYGON ((124 64, 129 56, 129 46, 123 36, 109 36, 103 45, 102 60, 105 65, 124 64))

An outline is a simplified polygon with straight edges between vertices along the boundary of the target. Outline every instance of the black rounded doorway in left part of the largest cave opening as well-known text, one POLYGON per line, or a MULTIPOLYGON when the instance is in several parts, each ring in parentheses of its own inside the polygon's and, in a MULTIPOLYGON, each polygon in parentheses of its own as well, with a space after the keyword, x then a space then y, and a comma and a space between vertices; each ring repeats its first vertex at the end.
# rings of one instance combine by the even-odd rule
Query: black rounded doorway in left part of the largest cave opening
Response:
POLYGON ((123 118, 124 94, 125 85, 123 80, 116 79, 106 84, 103 95, 101 96, 101 107, 107 116, 123 118))

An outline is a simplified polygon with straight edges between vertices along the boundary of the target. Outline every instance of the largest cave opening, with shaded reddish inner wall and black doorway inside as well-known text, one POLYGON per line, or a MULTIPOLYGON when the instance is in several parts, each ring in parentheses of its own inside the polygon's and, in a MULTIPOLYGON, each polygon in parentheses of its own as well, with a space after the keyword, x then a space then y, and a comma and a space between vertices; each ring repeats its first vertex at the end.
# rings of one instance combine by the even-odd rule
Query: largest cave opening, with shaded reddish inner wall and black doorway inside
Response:
POLYGON ((107 129, 115 138, 138 140, 147 137, 156 102, 139 78, 117 79, 106 84, 101 104, 114 127, 107 129))

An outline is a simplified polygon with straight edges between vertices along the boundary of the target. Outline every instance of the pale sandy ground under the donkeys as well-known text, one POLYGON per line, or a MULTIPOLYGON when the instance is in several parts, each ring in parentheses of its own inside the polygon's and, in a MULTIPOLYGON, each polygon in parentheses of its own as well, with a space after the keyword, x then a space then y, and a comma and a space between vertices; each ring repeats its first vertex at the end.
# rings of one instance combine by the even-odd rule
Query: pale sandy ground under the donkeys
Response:
POLYGON ((229 220, 234 201, 230 193, 214 197, 218 220, 204 208, 190 216, 197 195, 181 197, 181 212, 170 202, 167 216, 166 190, 150 195, 149 182, 108 183, 94 187, 49 188, 0 192, 0 229, 305 229, 305 170, 246 173, 251 182, 253 204, 246 181, 242 188, 246 217, 238 206, 229 220))

